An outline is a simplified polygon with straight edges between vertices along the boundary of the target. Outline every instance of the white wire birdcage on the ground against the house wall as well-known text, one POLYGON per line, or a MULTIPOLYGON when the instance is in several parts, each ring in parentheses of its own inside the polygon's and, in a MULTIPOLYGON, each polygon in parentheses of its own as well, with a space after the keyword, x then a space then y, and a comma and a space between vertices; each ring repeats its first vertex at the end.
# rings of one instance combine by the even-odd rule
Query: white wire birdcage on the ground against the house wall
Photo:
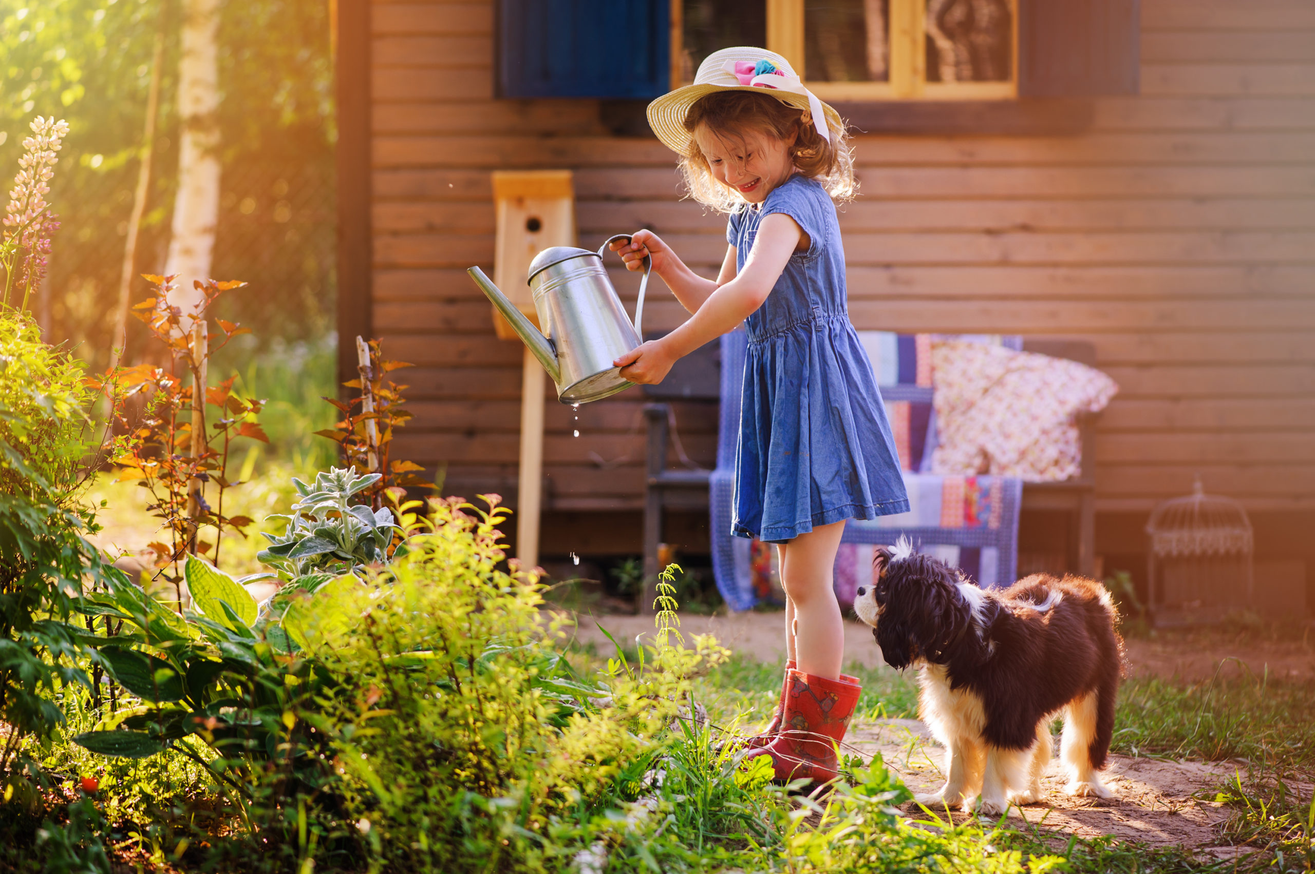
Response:
POLYGON ((1219 620, 1252 603, 1251 519, 1232 498, 1193 493, 1155 509, 1151 535, 1151 605, 1157 624, 1219 620))

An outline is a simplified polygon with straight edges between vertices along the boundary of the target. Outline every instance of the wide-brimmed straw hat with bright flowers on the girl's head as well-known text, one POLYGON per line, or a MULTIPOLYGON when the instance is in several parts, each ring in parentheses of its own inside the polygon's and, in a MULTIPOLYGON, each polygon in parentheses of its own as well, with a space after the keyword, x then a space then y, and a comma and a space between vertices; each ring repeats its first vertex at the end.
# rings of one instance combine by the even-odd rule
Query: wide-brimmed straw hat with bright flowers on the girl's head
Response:
POLYGON ((648 104, 648 126, 672 151, 684 152, 689 145, 685 113, 700 97, 714 91, 767 92, 784 104, 807 110, 822 139, 831 142, 827 120, 843 127, 840 113, 818 100, 803 87, 790 62, 767 49, 735 46, 704 58, 694 84, 667 92, 648 104))

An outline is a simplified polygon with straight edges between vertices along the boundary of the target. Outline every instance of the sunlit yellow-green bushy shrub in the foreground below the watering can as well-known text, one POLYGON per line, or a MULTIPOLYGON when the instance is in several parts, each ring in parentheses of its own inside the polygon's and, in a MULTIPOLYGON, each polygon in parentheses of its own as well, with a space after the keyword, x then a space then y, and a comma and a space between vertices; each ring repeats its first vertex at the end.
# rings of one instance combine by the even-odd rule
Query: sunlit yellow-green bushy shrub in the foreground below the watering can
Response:
POLYGON ((437 502, 387 574, 345 577, 284 619, 346 683, 321 725, 391 871, 539 866, 556 816, 648 756, 702 657, 671 648, 581 681, 535 578, 497 569, 502 519, 437 502))

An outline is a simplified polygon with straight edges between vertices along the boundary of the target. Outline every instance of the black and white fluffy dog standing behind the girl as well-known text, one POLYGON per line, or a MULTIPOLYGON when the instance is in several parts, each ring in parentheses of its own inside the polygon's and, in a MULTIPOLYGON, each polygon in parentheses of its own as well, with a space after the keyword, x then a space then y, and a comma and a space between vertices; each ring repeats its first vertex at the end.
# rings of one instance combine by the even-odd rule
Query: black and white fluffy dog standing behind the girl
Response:
POLYGON ((1049 722, 1063 712, 1061 757, 1073 795, 1109 798, 1097 771, 1114 729, 1123 664, 1118 611, 1094 580, 1034 574, 982 590, 901 539, 877 549, 877 582, 853 609, 892 668, 919 669, 919 712, 947 749, 947 779, 923 804, 984 814, 1040 800, 1049 722))

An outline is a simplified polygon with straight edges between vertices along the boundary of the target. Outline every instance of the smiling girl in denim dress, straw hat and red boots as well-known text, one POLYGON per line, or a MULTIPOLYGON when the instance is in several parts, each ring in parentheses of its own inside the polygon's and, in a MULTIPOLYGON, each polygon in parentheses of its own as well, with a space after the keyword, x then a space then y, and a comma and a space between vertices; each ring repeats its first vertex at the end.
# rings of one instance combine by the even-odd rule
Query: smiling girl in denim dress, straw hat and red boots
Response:
POLYGON ((648 124, 680 155, 690 195, 730 214, 717 281, 656 234, 614 243, 644 255, 693 315, 618 357, 621 375, 659 382, 672 363, 747 321, 732 534, 776 543, 788 658, 781 701, 751 756, 776 778, 836 775, 835 744, 861 691, 840 673, 844 626, 831 570, 846 519, 906 513, 899 461, 846 306, 832 201, 853 196, 844 125, 763 49, 723 49, 693 85, 659 97, 648 124))

